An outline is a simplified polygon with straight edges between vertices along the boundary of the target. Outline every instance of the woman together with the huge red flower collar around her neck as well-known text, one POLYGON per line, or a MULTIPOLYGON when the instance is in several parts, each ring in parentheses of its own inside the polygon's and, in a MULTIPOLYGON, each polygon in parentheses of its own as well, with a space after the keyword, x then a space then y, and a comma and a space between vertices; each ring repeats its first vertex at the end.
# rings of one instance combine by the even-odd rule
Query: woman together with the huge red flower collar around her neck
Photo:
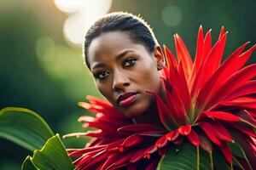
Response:
POLYGON ((178 62, 164 47, 166 67, 145 21, 128 13, 97 20, 85 36, 85 63, 109 103, 92 96, 90 104, 79 103, 96 113, 79 121, 99 130, 67 135, 93 138, 84 149, 68 150, 79 156, 77 169, 155 169, 168 150, 172 157, 182 147, 195 147, 196 156, 186 150, 166 156, 169 169, 256 168, 256 65, 241 69, 256 46, 242 53, 245 43, 220 65, 226 35, 222 28, 212 46, 211 31, 204 37, 200 27, 194 63, 175 35, 178 62), (234 141, 246 157, 236 155, 234 141), (202 163, 201 154, 209 159, 202 163))

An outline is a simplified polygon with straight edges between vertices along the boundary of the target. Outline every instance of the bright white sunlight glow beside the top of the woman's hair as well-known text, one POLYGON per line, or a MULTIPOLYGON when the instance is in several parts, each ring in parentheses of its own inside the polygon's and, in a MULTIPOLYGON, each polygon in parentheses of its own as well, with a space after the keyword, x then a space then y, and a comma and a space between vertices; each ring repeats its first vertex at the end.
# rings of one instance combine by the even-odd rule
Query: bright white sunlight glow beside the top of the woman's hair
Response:
POLYGON ((95 20, 108 13, 112 0, 55 0, 55 6, 70 16, 64 23, 63 33, 67 41, 81 45, 84 33, 95 20))

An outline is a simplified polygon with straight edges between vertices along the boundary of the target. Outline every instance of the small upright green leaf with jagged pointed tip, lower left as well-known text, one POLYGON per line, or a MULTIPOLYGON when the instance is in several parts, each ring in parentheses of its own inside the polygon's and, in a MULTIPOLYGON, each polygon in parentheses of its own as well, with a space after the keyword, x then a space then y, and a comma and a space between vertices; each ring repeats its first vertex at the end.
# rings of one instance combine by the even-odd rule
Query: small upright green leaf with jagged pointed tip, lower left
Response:
POLYGON ((74 169, 71 159, 61 142, 59 134, 50 138, 42 150, 35 150, 32 157, 26 157, 22 164, 22 170, 68 170, 74 169), (34 165, 34 167, 32 167, 34 165))

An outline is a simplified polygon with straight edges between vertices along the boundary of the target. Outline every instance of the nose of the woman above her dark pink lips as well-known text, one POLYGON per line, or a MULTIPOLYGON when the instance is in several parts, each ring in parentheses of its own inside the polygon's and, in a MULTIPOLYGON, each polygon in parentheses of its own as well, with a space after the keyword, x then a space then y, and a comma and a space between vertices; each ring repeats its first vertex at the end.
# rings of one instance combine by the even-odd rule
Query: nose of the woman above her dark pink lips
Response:
POLYGON ((122 90, 124 91, 125 87, 130 85, 130 80, 127 77, 127 74, 122 71, 116 71, 113 74, 113 90, 122 90))

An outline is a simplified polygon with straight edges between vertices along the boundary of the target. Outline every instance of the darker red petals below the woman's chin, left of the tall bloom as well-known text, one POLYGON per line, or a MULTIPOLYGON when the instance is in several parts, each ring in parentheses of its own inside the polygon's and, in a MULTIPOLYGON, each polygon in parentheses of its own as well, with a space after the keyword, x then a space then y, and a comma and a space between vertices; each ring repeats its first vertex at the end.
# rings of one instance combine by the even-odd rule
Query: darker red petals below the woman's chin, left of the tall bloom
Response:
POLYGON ((157 150, 154 142, 166 133, 166 129, 151 124, 133 124, 107 101, 92 96, 87 99, 90 104, 80 102, 79 105, 95 112, 96 117, 81 116, 79 122, 84 122, 84 127, 100 130, 66 135, 92 137, 84 149, 67 150, 69 156, 79 156, 73 162, 77 169, 138 169, 142 166, 154 169, 160 159, 157 154, 151 156, 157 150))

